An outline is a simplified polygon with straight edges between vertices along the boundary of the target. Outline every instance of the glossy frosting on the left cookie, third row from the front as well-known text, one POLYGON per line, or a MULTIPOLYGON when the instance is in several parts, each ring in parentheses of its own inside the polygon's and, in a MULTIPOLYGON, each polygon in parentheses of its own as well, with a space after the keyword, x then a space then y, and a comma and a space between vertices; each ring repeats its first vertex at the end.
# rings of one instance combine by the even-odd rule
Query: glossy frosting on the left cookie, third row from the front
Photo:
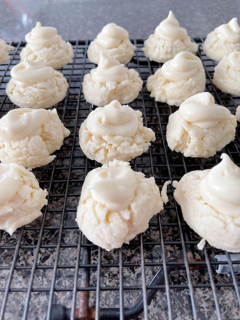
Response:
POLYGON ((54 69, 45 67, 41 60, 25 59, 24 62, 12 68, 11 76, 19 86, 25 87, 52 78, 54 69))

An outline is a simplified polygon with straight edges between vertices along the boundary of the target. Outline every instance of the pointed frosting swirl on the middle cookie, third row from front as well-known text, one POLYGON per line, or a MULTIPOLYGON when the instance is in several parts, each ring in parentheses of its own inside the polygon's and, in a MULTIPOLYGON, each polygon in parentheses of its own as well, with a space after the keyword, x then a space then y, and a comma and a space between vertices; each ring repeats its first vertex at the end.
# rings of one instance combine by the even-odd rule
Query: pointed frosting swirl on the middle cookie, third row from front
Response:
POLYGON ((113 81, 120 83, 128 79, 127 68, 122 66, 117 60, 109 58, 106 53, 100 53, 98 67, 92 69, 91 77, 93 82, 106 83, 113 81))

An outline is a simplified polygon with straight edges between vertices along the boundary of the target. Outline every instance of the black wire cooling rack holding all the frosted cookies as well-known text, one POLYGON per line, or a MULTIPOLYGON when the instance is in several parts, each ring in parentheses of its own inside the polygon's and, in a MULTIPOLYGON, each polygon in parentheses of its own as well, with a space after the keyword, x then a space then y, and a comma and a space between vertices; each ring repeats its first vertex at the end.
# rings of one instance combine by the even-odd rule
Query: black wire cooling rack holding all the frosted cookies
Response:
MULTIPOLYGON (((235 113, 239 97, 212 84, 215 63, 202 51, 197 55, 206 71, 206 91, 218 104, 235 113)), ((61 72, 69 90, 57 110, 71 131, 56 158, 33 172, 40 187, 48 189, 43 216, 12 236, 0 232, 0 319, 240 319, 239 275, 227 252, 208 244, 182 219, 180 207, 168 187, 169 202, 150 220, 149 228, 122 248, 106 252, 79 231, 75 217, 86 174, 100 164, 87 159, 78 143, 81 123, 95 107, 84 100, 81 82, 95 66, 86 57, 89 41, 71 42, 75 56, 61 72), (215 254, 226 254, 230 275, 219 275, 215 254)), ((140 73, 144 86, 130 105, 143 113, 145 125, 156 133, 149 151, 131 161, 132 168, 154 176, 159 188, 166 180, 180 180, 189 171, 208 169, 220 161, 220 152, 209 159, 185 158, 166 143, 168 116, 177 108, 156 103, 146 90, 146 80, 159 64, 144 57, 143 40, 134 40, 136 52, 129 68, 140 73)), ((5 96, 12 66, 19 63, 25 43, 14 43, 10 63, 0 66, 0 116, 15 108, 5 96)), ((240 163, 239 127, 236 139, 226 146, 240 163)), ((239 263, 239 261, 238 261, 239 263)))

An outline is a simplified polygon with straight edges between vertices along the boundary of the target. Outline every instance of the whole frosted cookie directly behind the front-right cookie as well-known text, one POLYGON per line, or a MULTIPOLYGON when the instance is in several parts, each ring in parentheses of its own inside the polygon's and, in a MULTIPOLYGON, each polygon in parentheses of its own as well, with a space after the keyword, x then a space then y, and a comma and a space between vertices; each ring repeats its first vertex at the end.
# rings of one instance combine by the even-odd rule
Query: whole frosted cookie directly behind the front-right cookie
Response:
POLYGON ((166 139, 171 150, 185 157, 210 157, 235 138, 236 118, 216 105, 209 92, 185 100, 169 116, 166 139))

